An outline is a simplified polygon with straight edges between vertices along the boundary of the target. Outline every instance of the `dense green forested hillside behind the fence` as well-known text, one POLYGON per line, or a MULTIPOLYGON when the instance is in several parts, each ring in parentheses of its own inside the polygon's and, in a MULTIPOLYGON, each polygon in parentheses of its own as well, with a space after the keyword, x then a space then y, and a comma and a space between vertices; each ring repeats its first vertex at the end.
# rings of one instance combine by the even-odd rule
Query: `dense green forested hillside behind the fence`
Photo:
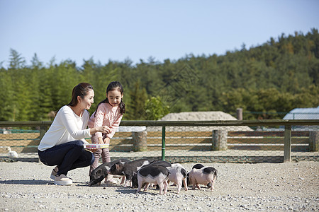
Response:
MULTIPOLYGON (((212 49, 213 51, 213 49, 212 49)), ((3 63, 2 63, 3 64, 3 63)), ((281 119, 296 107, 319 105, 319 34, 282 34, 257 47, 224 55, 187 54, 163 62, 108 61, 107 64, 72 60, 44 65, 34 54, 28 65, 15 49, 9 66, 0 69, 0 121, 50 120, 52 112, 71 100, 72 88, 81 82, 94 87, 95 104, 106 95, 111 81, 120 81, 127 120, 157 120, 169 112, 223 111, 244 119, 281 119)))

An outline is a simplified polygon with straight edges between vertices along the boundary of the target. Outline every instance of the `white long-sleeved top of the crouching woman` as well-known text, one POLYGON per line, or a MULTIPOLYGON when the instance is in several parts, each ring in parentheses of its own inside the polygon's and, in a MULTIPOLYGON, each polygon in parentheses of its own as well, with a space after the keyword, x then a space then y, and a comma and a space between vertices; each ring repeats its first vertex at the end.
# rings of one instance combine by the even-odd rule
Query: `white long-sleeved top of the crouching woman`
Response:
POLYGON ((86 129, 89 117, 87 110, 84 110, 82 117, 79 117, 71 107, 67 105, 61 107, 49 130, 40 141, 38 150, 45 151, 53 146, 75 140, 87 143, 84 138, 91 137, 90 129, 86 129))

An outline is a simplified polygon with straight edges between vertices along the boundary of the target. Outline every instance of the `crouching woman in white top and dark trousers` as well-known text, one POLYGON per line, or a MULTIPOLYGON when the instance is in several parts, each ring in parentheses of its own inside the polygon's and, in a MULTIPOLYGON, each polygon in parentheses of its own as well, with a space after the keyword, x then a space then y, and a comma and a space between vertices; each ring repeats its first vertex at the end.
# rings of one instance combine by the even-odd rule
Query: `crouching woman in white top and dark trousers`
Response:
POLYGON ((89 112, 94 102, 94 90, 89 83, 79 83, 72 90, 72 100, 60 108, 49 130, 38 146, 39 159, 45 165, 56 165, 51 178, 58 185, 70 185, 67 172, 94 163, 94 155, 83 147, 96 132, 110 133, 108 126, 86 129, 89 112))

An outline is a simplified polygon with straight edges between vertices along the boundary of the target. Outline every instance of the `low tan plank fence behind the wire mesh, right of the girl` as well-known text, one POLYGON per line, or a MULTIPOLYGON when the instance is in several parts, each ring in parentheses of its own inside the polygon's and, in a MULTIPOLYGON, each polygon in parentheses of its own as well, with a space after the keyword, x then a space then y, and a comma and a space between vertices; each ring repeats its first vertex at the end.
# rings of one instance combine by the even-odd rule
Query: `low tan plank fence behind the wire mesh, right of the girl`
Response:
MULTIPOLYGON (((143 134, 143 132, 135 132, 143 134)), ((139 146, 146 146, 145 151, 157 151, 162 148, 162 131, 147 131, 144 141, 133 139, 133 133, 117 132, 111 140, 111 151, 136 151, 139 146)), ((318 132, 292 131, 291 151, 318 151, 318 132), (317 147, 317 148, 316 148, 317 147)), ((167 131, 166 150, 186 151, 284 151, 284 131, 167 131), (217 136, 216 136, 217 134, 217 136), (226 134, 219 138, 218 134, 226 134), (225 141, 218 141, 225 139, 225 141), (220 149, 216 143, 225 143, 220 149)))

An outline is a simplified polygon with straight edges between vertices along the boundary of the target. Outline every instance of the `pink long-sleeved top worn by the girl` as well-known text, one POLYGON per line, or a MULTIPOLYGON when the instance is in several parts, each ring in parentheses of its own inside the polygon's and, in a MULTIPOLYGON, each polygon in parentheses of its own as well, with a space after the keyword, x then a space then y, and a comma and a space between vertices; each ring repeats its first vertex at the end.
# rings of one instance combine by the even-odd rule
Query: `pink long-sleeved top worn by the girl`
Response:
MULTIPOLYGON (((113 107, 108 103, 102 103, 99 105, 96 112, 94 112, 89 119, 89 128, 96 126, 109 126, 111 132, 106 134, 106 137, 112 139, 116 133, 116 129, 120 126, 123 114, 120 112, 120 107, 113 107), (95 115, 95 117, 94 117, 95 115)), ((97 138, 102 138, 101 132, 96 132, 97 138)))

